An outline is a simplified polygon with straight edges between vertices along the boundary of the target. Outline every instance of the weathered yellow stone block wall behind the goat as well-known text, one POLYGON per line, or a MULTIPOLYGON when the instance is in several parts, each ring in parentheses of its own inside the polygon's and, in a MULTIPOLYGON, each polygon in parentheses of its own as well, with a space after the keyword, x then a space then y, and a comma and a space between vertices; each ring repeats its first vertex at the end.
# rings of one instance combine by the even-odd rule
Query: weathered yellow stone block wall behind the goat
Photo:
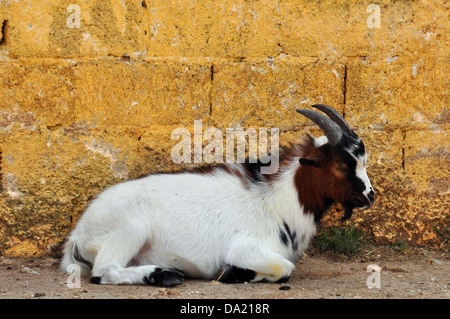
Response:
POLYGON ((175 128, 277 127, 284 144, 318 133, 295 112, 318 102, 369 153, 377 204, 353 222, 443 243, 445 1, 2 0, 0 30, 0 255, 52 254, 102 189, 179 169, 175 128))

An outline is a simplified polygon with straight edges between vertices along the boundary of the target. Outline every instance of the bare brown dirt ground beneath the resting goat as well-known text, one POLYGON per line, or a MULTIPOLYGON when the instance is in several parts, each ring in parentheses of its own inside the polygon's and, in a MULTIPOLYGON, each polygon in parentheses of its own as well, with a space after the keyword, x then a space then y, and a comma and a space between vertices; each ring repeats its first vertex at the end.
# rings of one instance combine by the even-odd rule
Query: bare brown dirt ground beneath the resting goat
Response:
MULTIPOLYGON (((398 253, 381 247, 351 260, 308 253, 296 264, 290 280, 284 284, 222 284, 187 279, 174 288, 101 286, 82 277, 79 288, 69 288, 68 275, 58 267, 57 258, 0 257, 0 298, 450 299, 448 253, 424 249, 398 253), (381 271, 368 272, 371 264, 381 267, 381 271), (369 284, 379 283, 380 288, 368 288, 369 276, 372 276, 369 284)), ((70 282, 75 285, 74 280, 70 282)))

